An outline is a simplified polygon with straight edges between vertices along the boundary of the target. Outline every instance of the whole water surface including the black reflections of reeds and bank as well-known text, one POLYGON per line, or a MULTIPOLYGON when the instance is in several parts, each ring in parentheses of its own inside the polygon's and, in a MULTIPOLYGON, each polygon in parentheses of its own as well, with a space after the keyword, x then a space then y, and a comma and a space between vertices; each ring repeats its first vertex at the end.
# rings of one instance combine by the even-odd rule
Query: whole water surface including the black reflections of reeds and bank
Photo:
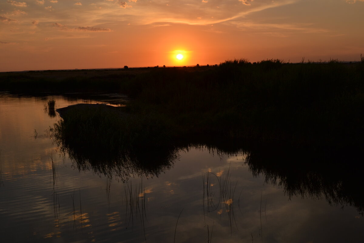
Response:
POLYGON ((102 121, 96 117, 76 119, 72 127, 80 129, 60 129, 55 136, 59 118, 43 111, 52 98, 58 107, 99 102, 55 96, 0 99, 5 184, 0 184, 0 226, 7 229, 2 238, 7 242, 58 237, 64 242, 173 242, 174 236, 175 242, 361 242, 364 237, 363 217, 355 208, 340 210, 325 199, 310 199, 336 193, 342 204, 363 205, 356 193, 363 170, 351 169, 357 159, 350 153, 320 155, 213 136, 176 142, 159 133, 163 124, 153 117, 123 115, 126 121, 119 117, 106 126, 90 126, 91 120, 102 121), (123 124, 129 132, 110 129, 123 124), (52 131, 43 134, 49 126, 52 131), (146 133, 131 136, 141 128, 146 133), (64 160, 56 150, 63 151, 64 160))

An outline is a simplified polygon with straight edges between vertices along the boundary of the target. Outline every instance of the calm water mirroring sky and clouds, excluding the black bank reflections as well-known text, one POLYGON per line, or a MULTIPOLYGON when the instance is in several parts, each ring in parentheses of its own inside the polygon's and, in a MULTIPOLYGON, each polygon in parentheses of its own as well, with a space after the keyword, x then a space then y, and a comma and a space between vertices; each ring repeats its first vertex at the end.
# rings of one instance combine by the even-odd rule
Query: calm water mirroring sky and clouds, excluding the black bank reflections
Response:
POLYGON ((205 146, 179 150, 154 176, 79 169, 47 134, 60 119, 45 110, 51 98, 56 108, 100 103, 0 93, 2 242, 363 242, 357 181, 353 192, 321 174, 306 184, 290 186, 286 177, 272 185, 265 179, 275 174, 254 169, 247 154, 205 146), (325 199, 332 192, 344 207, 325 199))

